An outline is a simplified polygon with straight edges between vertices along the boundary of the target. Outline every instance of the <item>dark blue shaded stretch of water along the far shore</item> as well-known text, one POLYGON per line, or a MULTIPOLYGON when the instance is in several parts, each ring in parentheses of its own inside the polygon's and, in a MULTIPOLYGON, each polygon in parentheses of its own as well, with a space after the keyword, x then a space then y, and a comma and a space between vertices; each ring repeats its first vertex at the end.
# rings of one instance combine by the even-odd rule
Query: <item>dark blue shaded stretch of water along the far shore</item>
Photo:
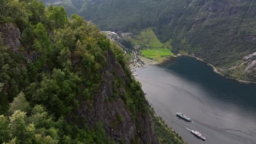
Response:
MULTIPOLYGON (((184 78, 200 83, 208 91, 219 93, 218 99, 254 107, 256 109, 256 85, 244 84, 234 80, 228 80, 213 72, 213 69, 190 57, 180 57, 164 67, 172 70, 184 78)), ((207 96, 207 95, 206 95, 207 96)), ((256 111, 255 111, 256 112, 256 111)))

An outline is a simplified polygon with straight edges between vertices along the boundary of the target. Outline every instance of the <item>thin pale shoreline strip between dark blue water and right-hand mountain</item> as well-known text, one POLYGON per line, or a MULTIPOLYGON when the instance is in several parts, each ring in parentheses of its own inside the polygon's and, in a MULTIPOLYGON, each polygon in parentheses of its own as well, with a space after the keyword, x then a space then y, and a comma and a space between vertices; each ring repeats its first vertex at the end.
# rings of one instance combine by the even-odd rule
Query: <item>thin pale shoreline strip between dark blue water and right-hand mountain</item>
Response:
POLYGON ((229 76, 226 76, 226 75, 223 75, 222 73, 220 73, 216 67, 214 67, 214 65, 212 65, 211 63, 208 63, 206 61, 203 61, 203 59, 201 58, 198 58, 198 57, 195 57, 195 56, 192 56, 192 55, 188 55, 188 54, 181 54, 181 53, 178 53, 176 55, 177 57, 180 57, 180 56, 187 56, 187 57, 191 57, 191 58, 195 58, 197 61, 201 61, 203 63, 206 63, 207 65, 209 65, 210 67, 212 67, 214 73, 217 73, 218 75, 226 78, 226 79, 230 79, 230 80, 235 80, 237 82, 241 82, 241 83, 245 83, 245 84, 256 84, 256 82, 253 82, 253 81, 244 81, 244 80, 240 80, 240 79, 236 79, 236 78, 233 78, 233 77, 229 77, 229 76))

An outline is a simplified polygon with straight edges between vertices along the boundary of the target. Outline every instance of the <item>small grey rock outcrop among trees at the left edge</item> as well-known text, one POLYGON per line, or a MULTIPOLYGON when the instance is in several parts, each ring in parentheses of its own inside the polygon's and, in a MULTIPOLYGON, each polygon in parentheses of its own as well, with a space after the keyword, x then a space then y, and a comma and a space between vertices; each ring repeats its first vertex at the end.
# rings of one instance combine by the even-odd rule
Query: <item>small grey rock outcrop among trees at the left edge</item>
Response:
POLYGON ((17 52, 21 46, 19 28, 10 23, 3 23, 0 25, 0 33, 4 45, 11 47, 13 52, 17 52))

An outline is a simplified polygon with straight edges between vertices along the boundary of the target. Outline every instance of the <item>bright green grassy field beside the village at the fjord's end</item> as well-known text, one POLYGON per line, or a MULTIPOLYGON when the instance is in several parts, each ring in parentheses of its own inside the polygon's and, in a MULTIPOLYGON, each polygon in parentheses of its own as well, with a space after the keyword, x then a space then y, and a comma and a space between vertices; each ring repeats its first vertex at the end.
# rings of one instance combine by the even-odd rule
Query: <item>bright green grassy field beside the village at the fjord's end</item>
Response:
POLYGON ((167 57, 174 56, 169 43, 162 44, 158 40, 152 28, 144 29, 136 38, 131 39, 133 45, 141 45, 141 55, 152 58, 158 62, 164 61, 167 57))

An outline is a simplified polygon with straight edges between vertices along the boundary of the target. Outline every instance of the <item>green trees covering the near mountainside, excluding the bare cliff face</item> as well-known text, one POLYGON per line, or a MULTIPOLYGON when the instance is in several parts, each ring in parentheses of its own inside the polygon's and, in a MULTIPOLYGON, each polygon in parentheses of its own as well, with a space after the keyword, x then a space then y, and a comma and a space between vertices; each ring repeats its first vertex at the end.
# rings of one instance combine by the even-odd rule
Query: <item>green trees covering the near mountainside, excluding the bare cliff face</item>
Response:
POLYGON ((79 127, 75 117, 93 100, 109 40, 82 17, 68 20, 63 7, 1 2, 0 27, 17 26, 22 46, 6 46, 10 33, 1 31, 0 143, 114 143, 100 122, 79 127))

